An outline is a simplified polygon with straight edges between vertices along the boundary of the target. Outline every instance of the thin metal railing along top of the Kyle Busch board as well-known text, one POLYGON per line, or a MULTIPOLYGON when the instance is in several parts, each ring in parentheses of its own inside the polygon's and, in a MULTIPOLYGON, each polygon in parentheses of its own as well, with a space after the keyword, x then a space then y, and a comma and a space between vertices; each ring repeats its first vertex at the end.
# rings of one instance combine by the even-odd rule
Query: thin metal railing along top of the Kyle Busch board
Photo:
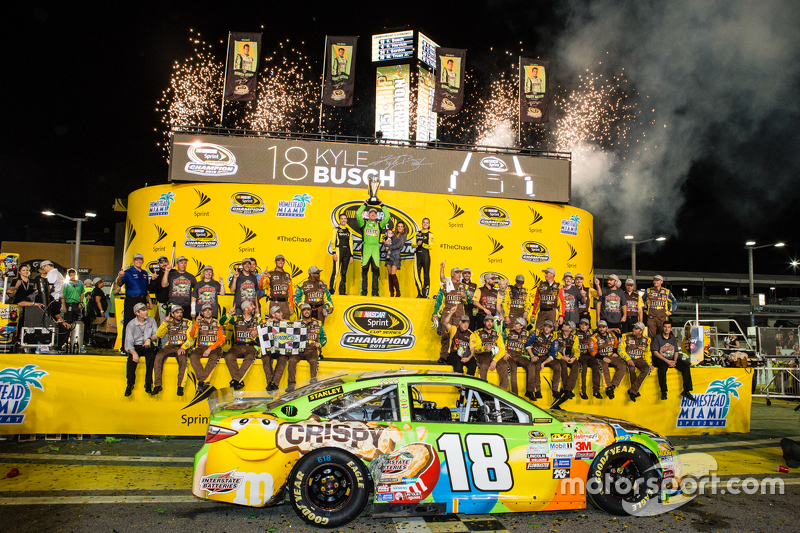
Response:
POLYGON ((421 149, 433 148, 436 150, 454 150, 460 152, 485 152, 492 154, 526 155, 531 157, 544 157, 549 159, 572 159, 571 152, 555 150, 534 150, 533 148, 509 148, 507 146, 483 146, 479 144, 458 144, 442 141, 416 141, 414 139, 384 139, 377 137, 362 137, 359 135, 339 135, 336 133, 303 133, 288 131, 261 131, 240 128, 196 126, 172 133, 187 133, 196 135, 228 135, 231 137, 263 137, 274 139, 290 139, 298 141, 324 141, 348 144, 372 144, 386 146, 411 146, 421 149))

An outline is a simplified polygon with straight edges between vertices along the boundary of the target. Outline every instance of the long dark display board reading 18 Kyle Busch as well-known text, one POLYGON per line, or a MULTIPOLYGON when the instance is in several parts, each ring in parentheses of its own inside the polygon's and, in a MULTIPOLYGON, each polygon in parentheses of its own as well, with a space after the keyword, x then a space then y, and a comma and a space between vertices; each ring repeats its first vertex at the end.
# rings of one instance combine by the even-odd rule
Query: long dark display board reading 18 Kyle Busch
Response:
POLYGON ((176 133, 170 181, 265 183, 489 196, 568 203, 568 159, 176 133))

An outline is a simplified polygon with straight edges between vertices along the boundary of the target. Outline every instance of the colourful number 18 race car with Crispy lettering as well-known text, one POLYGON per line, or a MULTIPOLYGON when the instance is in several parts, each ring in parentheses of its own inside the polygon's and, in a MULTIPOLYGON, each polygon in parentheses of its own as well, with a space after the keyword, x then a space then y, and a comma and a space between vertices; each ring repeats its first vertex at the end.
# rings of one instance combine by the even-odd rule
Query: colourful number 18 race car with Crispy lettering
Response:
MULTIPOLYGON (((269 394, 269 393, 267 393, 269 394)), ((271 396, 214 391, 194 461, 199 498, 284 503, 309 524, 372 516, 583 509, 644 514, 680 478, 669 440, 622 420, 547 411, 480 379, 327 375, 271 396)))

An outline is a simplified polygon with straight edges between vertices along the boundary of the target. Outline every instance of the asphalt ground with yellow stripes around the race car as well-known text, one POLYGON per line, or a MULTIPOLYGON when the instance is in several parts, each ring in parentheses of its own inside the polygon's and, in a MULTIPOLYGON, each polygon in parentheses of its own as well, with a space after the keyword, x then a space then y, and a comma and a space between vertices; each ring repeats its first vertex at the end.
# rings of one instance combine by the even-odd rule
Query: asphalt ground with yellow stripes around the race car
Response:
MULTIPOLYGON (((796 532, 800 469, 776 472, 778 465, 784 465, 780 439, 800 440, 800 415, 794 406, 776 401, 767 407, 763 400, 754 399, 749 434, 671 439, 681 454, 713 456, 716 474, 723 481, 733 476, 780 477, 784 494, 711 494, 707 490, 681 507, 651 517, 614 517, 589 506, 580 511, 373 519, 368 507, 356 521, 333 531, 796 532)), ((250 508, 196 499, 189 487, 192 457, 200 444, 199 439, 107 443, 102 439, 16 442, 7 438, 0 441, 0 524, 15 533, 322 531, 302 522, 288 504, 250 508), (6 478, 6 472, 15 467, 20 475, 6 478)))

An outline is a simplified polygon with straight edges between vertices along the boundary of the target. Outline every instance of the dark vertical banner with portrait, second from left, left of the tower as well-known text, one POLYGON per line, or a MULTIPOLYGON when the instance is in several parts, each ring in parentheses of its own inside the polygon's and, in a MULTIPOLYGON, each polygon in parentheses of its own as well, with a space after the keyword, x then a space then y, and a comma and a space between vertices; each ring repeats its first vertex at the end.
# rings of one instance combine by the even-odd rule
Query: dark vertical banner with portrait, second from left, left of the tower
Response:
POLYGON ((353 105, 356 79, 356 43, 358 36, 325 38, 325 83, 322 103, 339 107, 353 105))

